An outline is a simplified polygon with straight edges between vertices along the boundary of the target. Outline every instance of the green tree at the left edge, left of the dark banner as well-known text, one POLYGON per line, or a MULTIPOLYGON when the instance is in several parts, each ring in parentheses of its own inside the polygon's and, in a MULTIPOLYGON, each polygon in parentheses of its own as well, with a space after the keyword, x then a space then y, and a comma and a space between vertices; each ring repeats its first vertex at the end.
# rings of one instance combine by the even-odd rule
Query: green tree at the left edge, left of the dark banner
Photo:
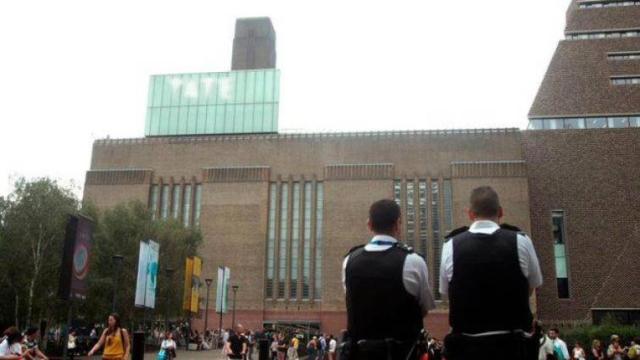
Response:
POLYGON ((77 212, 78 200, 55 180, 21 178, 1 207, 1 281, 14 293, 17 325, 20 299, 25 299, 24 324, 29 325, 34 310, 42 316, 55 305, 50 299, 58 285, 65 225, 77 212))

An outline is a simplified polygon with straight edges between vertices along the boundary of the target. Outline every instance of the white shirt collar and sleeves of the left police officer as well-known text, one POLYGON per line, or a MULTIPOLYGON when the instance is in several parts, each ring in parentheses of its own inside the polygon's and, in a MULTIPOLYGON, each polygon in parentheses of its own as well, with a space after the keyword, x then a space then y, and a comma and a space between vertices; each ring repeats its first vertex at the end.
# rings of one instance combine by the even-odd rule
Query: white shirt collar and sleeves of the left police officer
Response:
MULTIPOLYGON (((373 241, 388 241, 396 243, 398 242, 388 235, 376 235, 371 239, 373 241)), ((364 247, 364 251, 385 251, 388 250, 391 245, 378 245, 369 243, 364 247)), ((342 262, 342 286, 346 291, 346 270, 349 256, 347 256, 342 262)), ((407 292, 418 299, 418 304, 422 309, 422 315, 426 315, 431 309, 435 309, 436 303, 433 300, 433 294, 431 293, 431 286, 429 285, 429 270, 427 270, 427 264, 424 259, 415 253, 407 255, 404 259, 404 268, 402 280, 404 288, 407 292)))

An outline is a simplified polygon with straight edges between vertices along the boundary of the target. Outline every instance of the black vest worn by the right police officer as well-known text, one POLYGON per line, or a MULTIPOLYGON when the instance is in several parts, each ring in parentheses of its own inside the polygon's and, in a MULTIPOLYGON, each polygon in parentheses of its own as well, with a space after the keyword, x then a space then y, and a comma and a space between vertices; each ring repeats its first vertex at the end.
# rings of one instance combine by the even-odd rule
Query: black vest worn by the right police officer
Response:
POLYGON ((529 282, 520 268, 518 233, 463 232, 453 241, 449 323, 454 333, 531 329, 529 282))

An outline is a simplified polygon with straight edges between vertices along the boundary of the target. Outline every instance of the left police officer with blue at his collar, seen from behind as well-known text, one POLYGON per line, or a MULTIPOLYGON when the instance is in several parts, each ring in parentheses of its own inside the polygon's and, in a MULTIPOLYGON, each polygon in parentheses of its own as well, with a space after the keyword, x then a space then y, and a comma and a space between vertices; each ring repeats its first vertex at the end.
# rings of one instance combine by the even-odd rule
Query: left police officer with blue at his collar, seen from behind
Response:
POLYGON ((398 242, 400 207, 394 201, 373 203, 368 227, 371 241, 351 249, 343 262, 349 358, 404 360, 415 352, 423 317, 435 308, 427 265, 398 242))

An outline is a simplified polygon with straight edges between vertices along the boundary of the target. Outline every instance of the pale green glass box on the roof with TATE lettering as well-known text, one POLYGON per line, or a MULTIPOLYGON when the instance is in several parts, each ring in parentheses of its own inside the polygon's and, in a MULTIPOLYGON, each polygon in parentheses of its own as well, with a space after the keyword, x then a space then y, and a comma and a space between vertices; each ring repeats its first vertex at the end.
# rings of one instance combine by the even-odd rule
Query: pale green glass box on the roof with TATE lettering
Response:
POLYGON ((278 131, 280 71, 153 75, 146 136, 278 131))

